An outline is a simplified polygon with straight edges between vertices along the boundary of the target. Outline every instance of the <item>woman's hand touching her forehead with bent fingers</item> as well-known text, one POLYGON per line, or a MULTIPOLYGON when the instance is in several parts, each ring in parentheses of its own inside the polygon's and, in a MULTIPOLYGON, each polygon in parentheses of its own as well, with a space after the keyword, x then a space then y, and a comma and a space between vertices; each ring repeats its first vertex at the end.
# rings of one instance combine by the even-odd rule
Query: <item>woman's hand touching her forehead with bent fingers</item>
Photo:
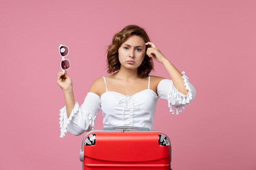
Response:
POLYGON ((157 62, 163 63, 166 59, 164 55, 161 53, 161 51, 153 44, 153 42, 147 42, 145 45, 150 45, 151 47, 148 47, 147 55, 149 57, 154 57, 157 62))

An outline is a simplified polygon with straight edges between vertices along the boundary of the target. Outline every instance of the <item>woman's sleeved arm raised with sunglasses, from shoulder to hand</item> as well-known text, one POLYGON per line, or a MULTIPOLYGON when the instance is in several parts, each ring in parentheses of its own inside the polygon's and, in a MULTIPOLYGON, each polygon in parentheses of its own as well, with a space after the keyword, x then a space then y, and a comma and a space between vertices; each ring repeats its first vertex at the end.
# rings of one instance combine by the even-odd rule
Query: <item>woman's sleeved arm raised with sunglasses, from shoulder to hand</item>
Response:
POLYGON ((60 109, 61 136, 66 132, 81 135, 85 131, 94 129, 94 121, 101 108, 100 97, 97 93, 97 81, 91 86, 81 106, 74 99, 72 80, 67 73, 58 73, 58 85, 61 87, 65 97, 65 106, 60 109))

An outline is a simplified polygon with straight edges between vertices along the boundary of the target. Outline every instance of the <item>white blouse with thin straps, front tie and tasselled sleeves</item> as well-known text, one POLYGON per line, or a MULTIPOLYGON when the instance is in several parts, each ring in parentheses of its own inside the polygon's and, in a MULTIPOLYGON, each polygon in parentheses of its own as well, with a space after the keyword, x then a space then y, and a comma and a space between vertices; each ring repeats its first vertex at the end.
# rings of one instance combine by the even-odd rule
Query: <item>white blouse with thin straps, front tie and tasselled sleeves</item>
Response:
POLYGON ((170 112, 176 115, 184 110, 184 106, 189 104, 195 98, 195 88, 189 82, 189 78, 182 72, 184 85, 189 91, 187 95, 180 93, 173 85, 172 80, 163 79, 157 85, 157 94, 151 90, 150 76, 148 77, 148 88, 135 93, 132 96, 123 95, 115 91, 108 91, 106 79, 103 76, 106 85, 106 92, 99 95, 88 92, 81 106, 76 102, 70 117, 67 118, 66 106, 60 110, 61 136, 65 137, 66 132, 74 135, 81 135, 83 132, 94 130, 94 121, 102 110, 103 126, 139 126, 152 130, 155 116, 157 99, 168 101, 170 112))

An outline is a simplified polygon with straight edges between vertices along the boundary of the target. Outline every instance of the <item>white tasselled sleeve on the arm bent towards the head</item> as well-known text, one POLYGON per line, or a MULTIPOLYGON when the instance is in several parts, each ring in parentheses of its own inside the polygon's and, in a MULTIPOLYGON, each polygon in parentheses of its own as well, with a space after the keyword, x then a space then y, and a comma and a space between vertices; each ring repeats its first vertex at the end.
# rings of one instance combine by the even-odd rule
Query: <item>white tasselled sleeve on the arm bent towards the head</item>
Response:
POLYGON ((186 86, 186 90, 189 91, 187 95, 179 92, 170 79, 163 79, 157 86, 158 97, 168 101, 168 107, 172 114, 174 114, 176 108, 176 115, 181 113, 182 110, 184 110, 184 106, 195 98, 196 93, 194 86, 189 82, 189 78, 185 75, 184 71, 182 72, 182 78, 184 79, 183 82, 184 86, 186 86))

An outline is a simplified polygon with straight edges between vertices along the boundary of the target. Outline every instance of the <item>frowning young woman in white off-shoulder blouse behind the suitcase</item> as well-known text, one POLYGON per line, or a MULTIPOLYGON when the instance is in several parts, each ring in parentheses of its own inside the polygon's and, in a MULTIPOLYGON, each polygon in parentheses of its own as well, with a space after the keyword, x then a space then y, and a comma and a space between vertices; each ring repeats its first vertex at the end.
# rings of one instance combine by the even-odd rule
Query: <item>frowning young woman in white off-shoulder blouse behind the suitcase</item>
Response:
POLYGON ((104 127, 139 126, 152 130, 157 99, 168 101, 176 115, 195 97, 189 78, 168 61, 150 42, 144 29, 128 25, 113 37, 108 46, 108 73, 96 79, 81 106, 75 102, 72 79, 67 72, 58 73, 58 85, 64 92, 66 106, 60 110, 61 136, 65 132, 81 135, 94 129, 99 110, 104 127), (149 76, 153 60, 166 68, 170 79, 149 76))

